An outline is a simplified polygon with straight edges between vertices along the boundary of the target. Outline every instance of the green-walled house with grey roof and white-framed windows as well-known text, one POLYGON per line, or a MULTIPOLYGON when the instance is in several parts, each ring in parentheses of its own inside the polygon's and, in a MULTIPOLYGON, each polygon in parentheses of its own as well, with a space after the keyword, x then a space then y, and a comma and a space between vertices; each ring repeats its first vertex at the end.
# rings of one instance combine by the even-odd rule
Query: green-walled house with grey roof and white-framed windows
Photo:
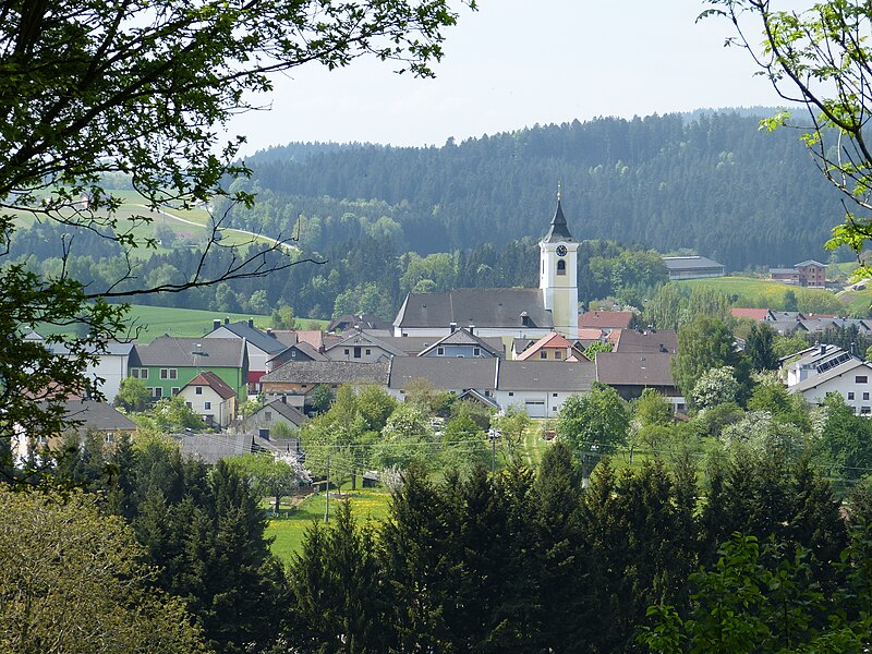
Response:
POLYGON ((142 379, 153 400, 178 395, 194 377, 213 372, 247 399, 249 354, 244 338, 177 338, 161 336, 131 352, 129 375, 142 379))

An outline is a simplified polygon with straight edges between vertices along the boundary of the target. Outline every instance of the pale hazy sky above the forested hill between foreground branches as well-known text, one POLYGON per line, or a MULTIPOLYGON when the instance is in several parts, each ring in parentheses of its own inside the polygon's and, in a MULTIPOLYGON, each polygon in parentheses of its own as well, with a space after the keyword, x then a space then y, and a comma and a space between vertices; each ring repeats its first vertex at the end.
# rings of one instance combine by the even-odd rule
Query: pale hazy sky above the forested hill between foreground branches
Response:
POLYGON ((436 78, 390 62, 277 77, 268 111, 237 117, 244 155, 291 142, 444 145, 535 124, 774 106, 732 25, 703 0, 480 0, 447 31, 436 78))

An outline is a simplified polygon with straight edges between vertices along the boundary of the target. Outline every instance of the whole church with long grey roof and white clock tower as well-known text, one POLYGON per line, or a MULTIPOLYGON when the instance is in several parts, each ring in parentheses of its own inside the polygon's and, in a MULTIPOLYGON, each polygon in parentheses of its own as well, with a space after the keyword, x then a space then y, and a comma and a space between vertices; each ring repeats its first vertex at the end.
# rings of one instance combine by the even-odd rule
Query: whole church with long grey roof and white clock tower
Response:
POLYGON ((393 320, 393 336, 448 336, 465 327, 479 337, 579 336, 578 242, 557 193, 557 209, 540 242, 537 289, 455 289, 409 293, 393 320))

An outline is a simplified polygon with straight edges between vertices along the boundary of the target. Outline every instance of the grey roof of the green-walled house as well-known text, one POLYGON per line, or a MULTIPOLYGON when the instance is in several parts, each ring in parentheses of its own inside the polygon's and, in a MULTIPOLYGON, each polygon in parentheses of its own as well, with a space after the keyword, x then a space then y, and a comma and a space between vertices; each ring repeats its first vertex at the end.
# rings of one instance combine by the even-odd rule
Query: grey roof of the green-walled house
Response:
POLYGON ((131 367, 165 365, 172 367, 245 367, 244 338, 177 338, 161 336, 136 344, 131 367))

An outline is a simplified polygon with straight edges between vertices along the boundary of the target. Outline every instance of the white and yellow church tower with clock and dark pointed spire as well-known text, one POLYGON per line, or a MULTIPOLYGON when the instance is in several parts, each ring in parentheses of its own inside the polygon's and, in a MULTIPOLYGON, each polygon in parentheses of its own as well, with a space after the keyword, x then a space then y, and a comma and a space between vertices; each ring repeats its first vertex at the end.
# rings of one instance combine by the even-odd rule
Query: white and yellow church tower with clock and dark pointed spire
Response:
POLYGON ((579 337, 579 244, 569 233, 557 190, 557 210, 550 228, 540 242, 538 288, 545 308, 552 312, 554 329, 566 338, 579 337))

